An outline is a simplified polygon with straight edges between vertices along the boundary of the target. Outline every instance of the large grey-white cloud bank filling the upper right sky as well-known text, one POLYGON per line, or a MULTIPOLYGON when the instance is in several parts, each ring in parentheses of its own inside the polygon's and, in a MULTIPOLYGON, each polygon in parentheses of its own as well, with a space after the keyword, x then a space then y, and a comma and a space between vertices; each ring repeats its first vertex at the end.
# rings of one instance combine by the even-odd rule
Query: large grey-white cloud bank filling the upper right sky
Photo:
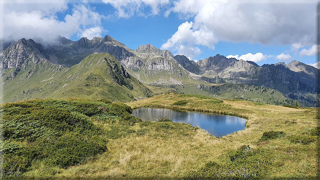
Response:
POLYGON ((219 40, 268 45, 315 41, 316 2, 179 0, 171 12, 194 17, 219 40))

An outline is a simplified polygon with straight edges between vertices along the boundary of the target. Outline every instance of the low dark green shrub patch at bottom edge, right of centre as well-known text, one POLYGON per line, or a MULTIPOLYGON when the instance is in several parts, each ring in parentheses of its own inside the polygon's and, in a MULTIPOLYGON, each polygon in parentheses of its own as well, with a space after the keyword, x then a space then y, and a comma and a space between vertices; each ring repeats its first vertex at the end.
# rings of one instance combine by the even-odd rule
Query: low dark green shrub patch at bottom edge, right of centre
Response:
POLYGON ((197 171, 189 172, 184 179, 258 179, 268 174, 270 162, 254 157, 259 150, 243 145, 230 156, 231 163, 218 164, 209 161, 197 171))

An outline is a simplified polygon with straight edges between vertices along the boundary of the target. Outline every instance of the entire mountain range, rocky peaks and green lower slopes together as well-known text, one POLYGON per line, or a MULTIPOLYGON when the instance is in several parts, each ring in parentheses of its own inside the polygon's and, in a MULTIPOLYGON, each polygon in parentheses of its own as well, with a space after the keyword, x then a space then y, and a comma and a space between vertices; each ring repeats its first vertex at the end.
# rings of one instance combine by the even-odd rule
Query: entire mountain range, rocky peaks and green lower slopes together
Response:
MULTIPOLYGON (((8 46, 8 45, 7 45, 8 46)), ((82 37, 43 48, 20 39, 0 53, 2 100, 110 98, 132 101, 154 94, 202 94, 271 104, 316 107, 319 70, 299 61, 264 64, 215 55, 197 62, 153 45, 136 50, 116 39, 82 37)))

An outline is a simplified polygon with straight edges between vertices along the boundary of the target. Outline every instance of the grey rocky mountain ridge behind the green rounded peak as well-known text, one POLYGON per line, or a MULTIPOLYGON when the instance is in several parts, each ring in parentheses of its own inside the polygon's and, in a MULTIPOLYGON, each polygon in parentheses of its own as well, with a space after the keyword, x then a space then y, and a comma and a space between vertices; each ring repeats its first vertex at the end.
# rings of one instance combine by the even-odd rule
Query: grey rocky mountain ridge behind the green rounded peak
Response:
POLYGON ((93 37, 92 40, 82 37, 78 41, 61 37, 60 44, 47 49, 32 39, 20 39, 0 53, 0 77, 14 78, 20 71, 27 70, 31 61, 33 64, 48 61, 69 68, 90 54, 105 52, 115 57, 129 74, 147 85, 184 86, 198 80, 252 84, 276 89, 306 106, 316 104, 319 70, 299 61, 258 66, 252 61, 217 54, 195 62, 184 55, 173 56, 170 51, 162 51, 150 44, 132 50, 108 35, 104 38, 93 37))

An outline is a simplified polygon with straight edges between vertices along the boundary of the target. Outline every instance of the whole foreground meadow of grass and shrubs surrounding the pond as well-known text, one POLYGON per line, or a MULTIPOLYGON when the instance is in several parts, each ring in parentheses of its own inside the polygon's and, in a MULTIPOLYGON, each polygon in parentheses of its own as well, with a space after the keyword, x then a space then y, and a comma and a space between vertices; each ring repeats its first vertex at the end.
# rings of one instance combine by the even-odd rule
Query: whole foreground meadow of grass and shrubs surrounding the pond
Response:
POLYGON ((316 179, 316 108, 164 94, 122 103, 31 100, 1 107, 4 179, 316 179), (185 123, 141 121, 139 107, 247 119, 222 137, 185 123), (249 145, 249 146, 248 146, 249 145))

